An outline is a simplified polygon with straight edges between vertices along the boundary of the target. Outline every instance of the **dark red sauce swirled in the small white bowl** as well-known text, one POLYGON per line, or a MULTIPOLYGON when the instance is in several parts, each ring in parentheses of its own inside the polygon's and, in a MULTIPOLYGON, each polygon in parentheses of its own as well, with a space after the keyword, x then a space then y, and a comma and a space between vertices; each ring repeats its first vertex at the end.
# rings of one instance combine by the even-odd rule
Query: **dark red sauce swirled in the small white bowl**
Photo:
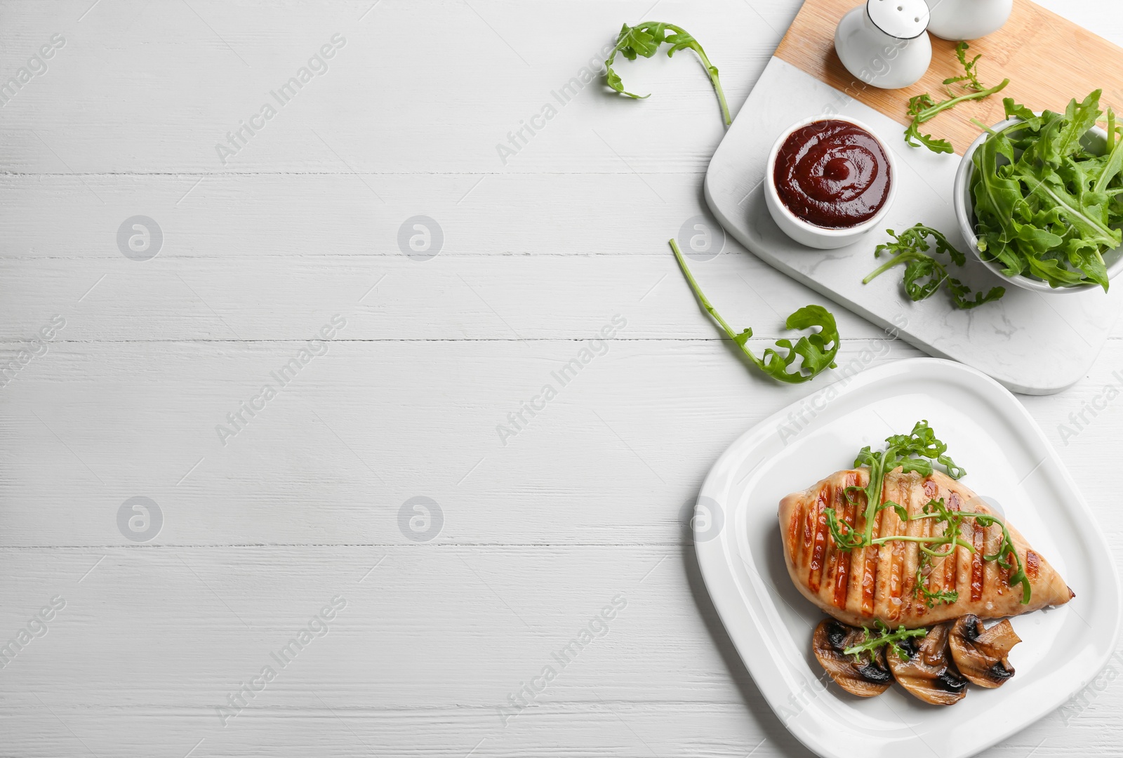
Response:
POLYGON ((877 137, 849 121, 796 129, 776 155, 773 183, 796 217, 830 229, 868 221, 889 197, 889 161, 877 137))

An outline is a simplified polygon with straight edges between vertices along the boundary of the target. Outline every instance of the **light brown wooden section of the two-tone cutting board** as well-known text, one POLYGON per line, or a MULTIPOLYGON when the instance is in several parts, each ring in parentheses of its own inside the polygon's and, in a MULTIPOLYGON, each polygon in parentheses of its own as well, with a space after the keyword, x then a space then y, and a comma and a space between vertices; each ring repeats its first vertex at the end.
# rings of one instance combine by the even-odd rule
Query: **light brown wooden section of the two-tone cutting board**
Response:
MULTIPOLYGON (((855 0, 806 0, 776 48, 776 57, 902 125, 909 124, 909 98, 929 92, 937 101, 947 99, 942 82, 961 74, 962 66, 956 60, 956 43, 932 35, 932 65, 912 86, 883 90, 847 71, 834 52, 834 29, 856 4, 855 0)), ((1004 27, 970 43, 969 56, 977 53, 983 54, 978 63, 983 83, 994 86, 1008 77, 1006 89, 960 103, 921 127, 924 134, 950 139, 959 155, 979 135, 970 120, 1001 121, 1006 97, 1033 110, 1063 110, 1072 98, 1081 100, 1102 89, 1101 108, 1111 104, 1116 112, 1121 110, 1123 48, 1029 0, 1014 0, 1004 27)))

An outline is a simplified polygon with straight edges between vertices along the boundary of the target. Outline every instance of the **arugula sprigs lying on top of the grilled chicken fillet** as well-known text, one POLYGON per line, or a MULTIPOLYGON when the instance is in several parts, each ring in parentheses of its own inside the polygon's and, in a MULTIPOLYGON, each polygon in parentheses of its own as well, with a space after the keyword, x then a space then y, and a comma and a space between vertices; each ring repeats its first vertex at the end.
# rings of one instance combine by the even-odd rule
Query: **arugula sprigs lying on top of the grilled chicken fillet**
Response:
POLYGON ((933 593, 923 587, 921 579, 923 578, 924 561, 931 558, 950 558, 957 547, 975 554, 975 546, 962 537, 961 527, 965 519, 975 519, 975 523, 984 529, 997 524, 1002 529, 1002 542, 994 555, 984 555, 983 559, 996 560, 1001 567, 1008 570, 1010 586, 1021 584, 1022 603, 1029 603, 1032 588, 1022 565, 1022 557, 1014 548, 1010 529, 998 517, 974 511, 952 511, 948 509, 942 499, 930 500, 915 515, 910 515, 907 509, 898 503, 883 502, 885 475, 896 468, 901 468, 902 473, 905 474, 916 472, 921 476, 931 476, 934 462, 942 466, 948 476, 953 480, 961 478, 967 473, 948 456, 947 444, 937 439, 935 432, 928 426, 928 421, 917 421, 911 433, 892 435, 885 438, 885 442, 886 449, 884 451, 875 453, 867 445, 855 459, 855 466, 869 468, 869 483, 865 487, 849 486, 844 491, 847 501, 856 508, 861 505, 862 499, 865 500, 865 529, 858 531, 849 522, 840 520, 833 508, 823 509, 828 529, 838 548, 840 550, 855 550, 894 541, 916 542, 921 554, 921 563, 916 567, 916 586, 922 588, 925 602, 928 602, 929 608, 932 608, 937 602, 955 603, 959 600, 959 594, 955 591, 933 593), (943 528, 939 535, 933 533, 930 537, 889 535, 875 538, 876 517, 887 508, 894 509, 902 521, 932 519, 933 526, 942 524, 943 528))

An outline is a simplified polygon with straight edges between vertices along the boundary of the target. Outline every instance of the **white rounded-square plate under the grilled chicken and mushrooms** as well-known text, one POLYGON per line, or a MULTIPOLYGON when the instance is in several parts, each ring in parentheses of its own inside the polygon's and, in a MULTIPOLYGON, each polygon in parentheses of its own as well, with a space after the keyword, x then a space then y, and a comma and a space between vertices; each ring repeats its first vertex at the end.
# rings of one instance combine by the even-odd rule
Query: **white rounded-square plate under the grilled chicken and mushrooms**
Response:
POLYGON ((975 755, 1087 685, 1119 634, 1114 560, 1057 453, 1007 390, 949 360, 901 360, 843 377, 741 436, 702 485, 694 540, 757 686, 788 730, 829 758, 975 755), (862 446, 880 449, 920 419, 967 469, 962 483, 997 503, 1076 592, 1066 605, 1015 617, 1023 640, 1011 652, 1016 675, 997 689, 970 685, 952 706, 928 705, 897 685, 855 697, 825 677, 811 651, 824 615, 792 584, 777 524, 780 497, 851 467, 862 446))

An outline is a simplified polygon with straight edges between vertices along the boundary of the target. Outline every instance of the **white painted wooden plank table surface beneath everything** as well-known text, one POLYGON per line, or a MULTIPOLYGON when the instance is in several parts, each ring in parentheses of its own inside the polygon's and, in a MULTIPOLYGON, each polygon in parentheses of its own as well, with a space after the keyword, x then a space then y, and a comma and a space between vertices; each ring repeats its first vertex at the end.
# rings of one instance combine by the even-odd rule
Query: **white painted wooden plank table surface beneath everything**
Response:
MULTIPOLYGON (((626 66, 642 102, 553 94, 651 16, 736 113, 798 3, 372 1, 0 3, 0 80, 45 69, 0 108, 0 755, 807 755, 683 527, 813 390, 748 371, 667 249, 713 93, 683 54, 626 66)), ((1111 0, 1048 4, 1123 43, 1111 0)), ((695 271, 758 351, 820 302, 733 243, 695 271)), ((917 355, 839 322, 840 363, 917 355)), ((1107 384, 1123 330, 1024 402, 1119 551, 1107 384)), ((1120 669, 987 755, 1121 755, 1120 669)))

